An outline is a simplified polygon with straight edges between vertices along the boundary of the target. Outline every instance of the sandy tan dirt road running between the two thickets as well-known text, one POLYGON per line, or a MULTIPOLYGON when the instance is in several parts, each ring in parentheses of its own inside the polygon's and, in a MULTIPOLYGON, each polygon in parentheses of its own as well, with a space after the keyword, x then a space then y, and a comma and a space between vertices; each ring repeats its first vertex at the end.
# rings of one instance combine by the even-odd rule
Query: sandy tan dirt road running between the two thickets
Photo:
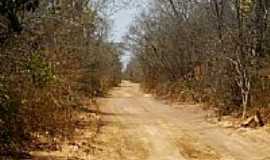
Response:
POLYGON ((100 104, 104 124, 111 124, 102 134, 111 135, 109 141, 116 143, 111 152, 122 159, 270 160, 269 135, 210 124, 200 106, 167 105, 141 92, 138 84, 124 81, 100 104))

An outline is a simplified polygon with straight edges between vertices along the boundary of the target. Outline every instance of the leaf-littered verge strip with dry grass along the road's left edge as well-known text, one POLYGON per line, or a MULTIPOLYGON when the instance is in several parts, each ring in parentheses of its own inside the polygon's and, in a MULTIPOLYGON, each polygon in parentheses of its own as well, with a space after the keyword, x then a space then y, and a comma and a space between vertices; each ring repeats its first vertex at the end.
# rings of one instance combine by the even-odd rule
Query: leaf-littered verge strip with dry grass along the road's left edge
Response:
POLYGON ((76 129, 72 138, 56 139, 58 146, 56 149, 32 151, 32 159, 92 159, 95 150, 98 149, 93 145, 93 139, 98 133, 100 116, 90 112, 90 108, 92 107, 84 107, 77 111, 77 118, 73 121, 76 129))

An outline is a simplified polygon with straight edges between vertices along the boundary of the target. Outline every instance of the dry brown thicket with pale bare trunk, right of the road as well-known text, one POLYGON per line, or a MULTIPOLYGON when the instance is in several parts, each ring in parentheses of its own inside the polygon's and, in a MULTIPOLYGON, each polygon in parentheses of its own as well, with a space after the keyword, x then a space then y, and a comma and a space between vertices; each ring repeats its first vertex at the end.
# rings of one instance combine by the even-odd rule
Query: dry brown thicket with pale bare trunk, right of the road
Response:
POLYGON ((267 0, 151 1, 127 36, 128 77, 222 114, 269 110, 269 12, 267 0))

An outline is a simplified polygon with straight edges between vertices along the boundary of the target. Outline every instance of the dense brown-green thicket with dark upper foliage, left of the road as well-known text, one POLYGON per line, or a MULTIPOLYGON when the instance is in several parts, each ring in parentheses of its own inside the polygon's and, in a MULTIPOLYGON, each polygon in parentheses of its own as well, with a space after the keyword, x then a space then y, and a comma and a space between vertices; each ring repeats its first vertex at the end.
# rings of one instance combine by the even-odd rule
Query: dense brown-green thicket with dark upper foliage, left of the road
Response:
POLYGON ((40 135, 68 137, 81 99, 120 82, 99 2, 0 0, 1 155, 40 135))

